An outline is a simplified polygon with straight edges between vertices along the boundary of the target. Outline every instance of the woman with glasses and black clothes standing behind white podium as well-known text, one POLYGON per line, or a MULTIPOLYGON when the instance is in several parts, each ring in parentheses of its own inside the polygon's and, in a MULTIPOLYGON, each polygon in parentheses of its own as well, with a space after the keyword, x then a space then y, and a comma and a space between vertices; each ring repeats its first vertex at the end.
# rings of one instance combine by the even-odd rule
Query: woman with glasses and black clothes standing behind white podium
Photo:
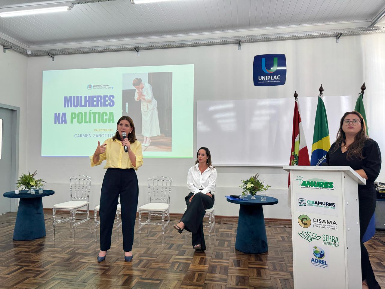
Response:
POLYGON ((362 288, 380 288, 362 237, 376 208, 374 181, 381 169, 381 152, 378 144, 368 138, 365 121, 357 111, 347 112, 341 118, 336 141, 326 154, 326 163, 330 166, 350 166, 366 180, 366 185, 358 185, 362 288))

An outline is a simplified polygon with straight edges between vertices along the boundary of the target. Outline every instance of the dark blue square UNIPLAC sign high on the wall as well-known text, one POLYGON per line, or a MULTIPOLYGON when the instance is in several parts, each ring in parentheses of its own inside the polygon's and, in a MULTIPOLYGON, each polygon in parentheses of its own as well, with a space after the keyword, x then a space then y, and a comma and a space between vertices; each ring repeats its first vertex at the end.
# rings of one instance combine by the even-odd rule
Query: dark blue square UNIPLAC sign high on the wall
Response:
POLYGON ((254 86, 276 86, 286 82, 285 54, 262 54, 254 56, 254 86))

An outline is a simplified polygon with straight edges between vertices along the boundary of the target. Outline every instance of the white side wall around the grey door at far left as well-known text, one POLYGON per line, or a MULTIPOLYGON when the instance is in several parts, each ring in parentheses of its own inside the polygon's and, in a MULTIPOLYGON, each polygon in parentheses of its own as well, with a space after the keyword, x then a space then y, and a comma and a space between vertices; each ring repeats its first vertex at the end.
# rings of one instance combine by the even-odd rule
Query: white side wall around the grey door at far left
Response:
POLYGON ((27 170, 27 64, 27 56, 0 50, 0 103, 20 108, 19 173, 27 170))

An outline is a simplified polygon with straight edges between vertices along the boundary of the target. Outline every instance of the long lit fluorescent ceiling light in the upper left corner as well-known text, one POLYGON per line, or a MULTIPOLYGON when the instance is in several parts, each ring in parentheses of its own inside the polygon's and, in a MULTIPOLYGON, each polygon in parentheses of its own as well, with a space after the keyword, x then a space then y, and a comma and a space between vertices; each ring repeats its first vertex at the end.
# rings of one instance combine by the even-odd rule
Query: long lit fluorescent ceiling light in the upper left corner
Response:
POLYGON ((50 12, 68 11, 74 8, 72 3, 54 3, 42 5, 20 6, 0 9, 0 17, 14 17, 50 12))

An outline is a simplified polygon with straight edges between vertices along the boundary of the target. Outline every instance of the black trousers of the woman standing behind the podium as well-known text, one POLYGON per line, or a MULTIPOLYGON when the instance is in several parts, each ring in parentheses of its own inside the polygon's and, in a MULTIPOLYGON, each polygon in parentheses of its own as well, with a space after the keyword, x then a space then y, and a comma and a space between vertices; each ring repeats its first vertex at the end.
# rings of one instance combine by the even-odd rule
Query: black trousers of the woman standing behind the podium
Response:
POLYGON ((361 241, 361 273, 362 281, 366 279, 370 289, 381 288, 374 276, 372 265, 370 265, 369 254, 362 243, 370 219, 376 208, 376 189, 375 187, 358 186, 358 207, 360 211, 360 241, 361 241))

